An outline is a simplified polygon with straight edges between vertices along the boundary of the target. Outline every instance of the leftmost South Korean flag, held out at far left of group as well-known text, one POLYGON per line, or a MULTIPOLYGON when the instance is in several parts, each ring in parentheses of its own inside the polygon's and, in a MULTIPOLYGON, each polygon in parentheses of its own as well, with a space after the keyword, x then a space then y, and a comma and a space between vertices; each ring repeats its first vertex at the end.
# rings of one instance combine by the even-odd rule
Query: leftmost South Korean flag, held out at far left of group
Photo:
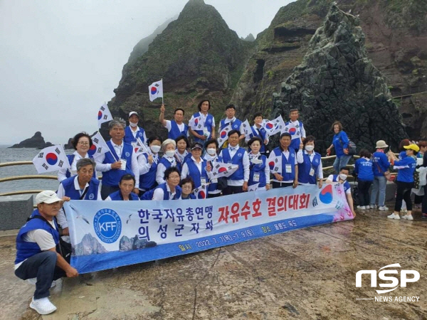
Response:
POLYGON ((41 150, 37 156, 34 157, 33 164, 36 166, 38 174, 70 168, 70 163, 60 144, 48 146, 41 150))

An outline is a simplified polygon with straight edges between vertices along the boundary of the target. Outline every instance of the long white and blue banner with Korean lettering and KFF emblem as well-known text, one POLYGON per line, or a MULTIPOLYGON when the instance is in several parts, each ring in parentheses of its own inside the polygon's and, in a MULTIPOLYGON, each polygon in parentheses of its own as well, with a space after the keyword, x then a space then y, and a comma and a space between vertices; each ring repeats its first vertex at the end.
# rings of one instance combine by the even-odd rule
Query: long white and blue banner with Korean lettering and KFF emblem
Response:
POLYGON ((64 204, 79 273, 159 260, 353 219, 342 184, 202 200, 64 204))

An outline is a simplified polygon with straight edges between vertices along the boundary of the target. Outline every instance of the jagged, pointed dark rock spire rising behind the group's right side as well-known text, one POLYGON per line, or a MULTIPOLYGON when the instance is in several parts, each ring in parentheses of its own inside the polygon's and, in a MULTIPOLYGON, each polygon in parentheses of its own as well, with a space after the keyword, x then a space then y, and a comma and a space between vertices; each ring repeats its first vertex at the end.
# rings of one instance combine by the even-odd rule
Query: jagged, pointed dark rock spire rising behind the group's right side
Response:
POLYGON ((332 141, 334 120, 360 148, 372 149, 379 139, 396 147, 407 137, 404 125, 384 78, 367 58, 364 41, 359 19, 333 5, 302 63, 275 95, 272 118, 297 108, 323 150, 332 141))

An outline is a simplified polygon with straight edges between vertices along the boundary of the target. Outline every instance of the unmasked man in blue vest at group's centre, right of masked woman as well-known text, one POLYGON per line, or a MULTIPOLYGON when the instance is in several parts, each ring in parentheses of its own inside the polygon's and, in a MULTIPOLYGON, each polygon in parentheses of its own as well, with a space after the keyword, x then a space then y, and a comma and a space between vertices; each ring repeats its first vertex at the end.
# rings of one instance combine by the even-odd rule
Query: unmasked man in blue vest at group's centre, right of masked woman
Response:
POLYGON ((238 146, 240 131, 231 130, 228 132, 228 147, 222 149, 219 156, 225 164, 238 164, 238 169, 227 178, 228 186, 223 189, 223 195, 242 193, 248 190, 249 181, 249 161, 246 149, 238 146))

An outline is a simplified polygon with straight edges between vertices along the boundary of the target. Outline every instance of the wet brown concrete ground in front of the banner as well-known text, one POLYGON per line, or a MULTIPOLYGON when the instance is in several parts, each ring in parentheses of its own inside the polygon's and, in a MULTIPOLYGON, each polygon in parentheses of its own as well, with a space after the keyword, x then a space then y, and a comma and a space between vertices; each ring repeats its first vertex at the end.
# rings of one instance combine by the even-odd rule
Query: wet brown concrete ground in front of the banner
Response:
POLYGON ((14 276, 14 237, 1 237, 0 319, 427 319, 427 222, 388 214, 65 279, 43 317, 28 307, 34 286, 14 276), (357 271, 393 263, 421 278, 388 294, 368 275, 355 287, 357 271), (357 300, 380 296, 419 300, 357 300))

